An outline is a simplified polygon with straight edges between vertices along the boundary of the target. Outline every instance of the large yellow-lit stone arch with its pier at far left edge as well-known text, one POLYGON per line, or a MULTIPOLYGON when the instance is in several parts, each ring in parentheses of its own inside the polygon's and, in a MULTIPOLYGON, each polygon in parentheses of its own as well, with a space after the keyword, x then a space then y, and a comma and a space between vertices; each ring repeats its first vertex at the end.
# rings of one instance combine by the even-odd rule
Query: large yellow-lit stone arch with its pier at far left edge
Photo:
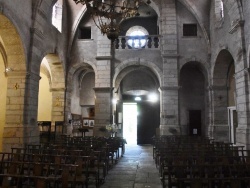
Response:
POLYGON ((4 119, 0 122, 0 150, 9 151, 14 145, 26 142, 26 135, 30 135, 35 128, 24 127, 25 93, 27 81, 27 68, 25 46, 15 24, 0 13, 0 56, 4 64, 6 80, 1 79, 1 93, 6 102, 3 102, 2 112, 4 119), (2 83, 5 82, 5 83, 2 83), (18 99, 18 101, 16 100, 18 99), (13 108, 15 106, 15 108, 13 108), (15 114, 15 116, 11 115, 15 114), (23 134, 20 134, 23 133, 23 134), (15 140, 10 142, 13 137, 15 140), (18 140, 18 141, 17 141, 18 140))

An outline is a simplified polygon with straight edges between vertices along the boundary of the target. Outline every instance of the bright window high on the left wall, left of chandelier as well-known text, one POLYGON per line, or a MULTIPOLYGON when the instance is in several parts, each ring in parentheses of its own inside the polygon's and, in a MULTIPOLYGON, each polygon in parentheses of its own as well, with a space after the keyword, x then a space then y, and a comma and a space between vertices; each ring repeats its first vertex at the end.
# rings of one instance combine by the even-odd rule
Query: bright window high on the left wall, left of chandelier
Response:
POLYGON ((57 28, 58 31, 62 32, 62 0, 58 0, 53 6, 52 12, 52 24, 57 28))

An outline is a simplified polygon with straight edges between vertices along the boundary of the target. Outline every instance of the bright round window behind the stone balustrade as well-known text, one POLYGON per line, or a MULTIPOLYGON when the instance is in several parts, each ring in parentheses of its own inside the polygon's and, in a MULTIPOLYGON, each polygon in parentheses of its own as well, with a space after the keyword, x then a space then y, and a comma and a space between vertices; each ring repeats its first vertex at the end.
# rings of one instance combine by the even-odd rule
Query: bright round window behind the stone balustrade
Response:
POLYGON ((130 36, 128 45, 132 48, 142 48, 146 45, 146 35, 148 31, 142 26, 133 26, 126 32, 126 36, 130 36))

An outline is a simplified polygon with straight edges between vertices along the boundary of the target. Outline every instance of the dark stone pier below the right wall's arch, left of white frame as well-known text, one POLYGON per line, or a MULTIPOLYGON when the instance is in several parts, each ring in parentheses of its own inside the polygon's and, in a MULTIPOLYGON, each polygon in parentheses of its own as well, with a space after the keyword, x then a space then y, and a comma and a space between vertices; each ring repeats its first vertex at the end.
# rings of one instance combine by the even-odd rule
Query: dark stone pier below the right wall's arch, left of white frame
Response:
POLYGON ((212 86, 213 93, 213 138, 216 141, 229 141, 229 126, 227 112, 227 87, 212 86))

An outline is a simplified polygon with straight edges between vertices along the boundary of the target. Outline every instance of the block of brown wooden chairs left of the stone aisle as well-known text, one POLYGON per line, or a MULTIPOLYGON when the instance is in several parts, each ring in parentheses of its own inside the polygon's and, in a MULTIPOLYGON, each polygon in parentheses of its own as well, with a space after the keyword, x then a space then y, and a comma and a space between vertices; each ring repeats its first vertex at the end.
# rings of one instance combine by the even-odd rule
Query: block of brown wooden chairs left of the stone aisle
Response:
POLYGON ((63 137, 0 153, 0 187, 99 187, 125 150, 124 139, 63 137))

